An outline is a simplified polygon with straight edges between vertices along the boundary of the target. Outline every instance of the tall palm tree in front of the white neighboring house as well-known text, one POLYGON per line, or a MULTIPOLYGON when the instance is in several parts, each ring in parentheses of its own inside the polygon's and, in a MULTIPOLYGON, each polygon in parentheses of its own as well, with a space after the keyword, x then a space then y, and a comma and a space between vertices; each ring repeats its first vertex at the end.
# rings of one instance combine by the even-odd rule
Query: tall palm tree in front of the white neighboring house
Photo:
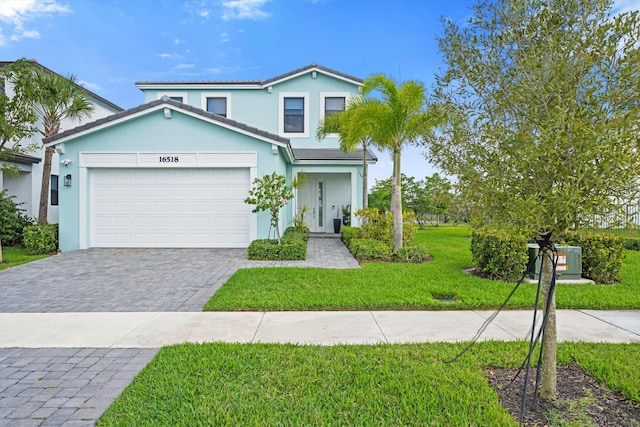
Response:
MULTIPOLYGON (((78 85, 77 79, 73 75, 62 77, 38 69, 34 86, 38 94, 34 110, 42 121, 43 127, 38 131, 45 138, 58 133, 62 120, 80 120, 89 117, 93 111, 93 104, 87 98, 86 91, 78 85)), ((45 148, 38 224, 47 223, 53 152, 53 148, 45 148)))

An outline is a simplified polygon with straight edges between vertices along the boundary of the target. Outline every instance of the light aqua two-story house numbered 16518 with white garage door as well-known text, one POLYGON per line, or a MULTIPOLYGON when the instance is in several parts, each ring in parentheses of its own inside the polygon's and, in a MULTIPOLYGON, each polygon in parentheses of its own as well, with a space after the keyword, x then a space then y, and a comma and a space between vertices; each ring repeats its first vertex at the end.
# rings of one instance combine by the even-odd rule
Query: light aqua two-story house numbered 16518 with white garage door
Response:
POLYGON ((315 64, 264 81, 137 83, 145 104, 45 141, 66 163, 60 248, 247 247, 270 221, 244 199, 274 171, 307 182, 281 229, 306 205, 311 231, 333 233, 341 206, 361 206, 363 153, 318 142, 316 128, 361 84, 315 64))

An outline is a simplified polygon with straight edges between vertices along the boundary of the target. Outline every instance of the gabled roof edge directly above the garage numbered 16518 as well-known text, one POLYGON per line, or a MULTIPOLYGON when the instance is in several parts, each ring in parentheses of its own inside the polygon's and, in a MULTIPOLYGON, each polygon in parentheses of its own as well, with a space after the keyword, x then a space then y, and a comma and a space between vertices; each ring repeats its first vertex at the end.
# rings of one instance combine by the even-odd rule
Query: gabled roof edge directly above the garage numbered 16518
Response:
POLYGON ((217 122, 220 122, 220 123, 224 123, 224 124, 226 124, 228 126, 231 126, 233 128, 236 128, 236 129, 239 129, 239 130, 251 133, 251 134, 254 134, 256 136, 260 136, 260 137, 263 137, 263 138, 271 139, 271 140, 276 141, 276 142, 280 142, 280 143, 282 143, 282 144, 284 144, 286 146, 290 146, 291 145, 289 139, 287 139, 287 138, 283 138, 283 137, 281 137, 279 135, 275 135, 273 133, 266 132, 264 130, 258 129, 258 128, 253 127, 253 126, 249 126, 249 125, 244 124, 244 123, 237 122, 235 120, 227 119, 225 117, 218 116, 218 115, 213 114, 213 113, 209 113, 208 111, 201 110, 200 108, 196 108, 196 107, 193 107, 193 106, 188 105, 188 104, 183 104, 183 103, 180 103, 178 101, 174 101, 174 100, 172 100, 172 99, 170 99, 169 97, 166 97, 166 96, 163 96, 162 99, 157 99, 155 101, 151 101, 151 102, 148 102, 146 104, 142 104, 142 105, 139 105, 137 107, 130 108, 130 109, 126 110, 126 111, 121 111, 119 113, 112 114, 112 115, 107 116, 107 117, 103 117, 103 118, 95 120, 93 122, 85 123, 82 126, 78 126, 78 127, 73 128, 73 129, 66 130, 64 132, 61 132, 61 133, 56 134, 54 136, 51 136, 49 138, 43 139, 43 142, 45 144, 51 144, 51 143, 53 143, 55 141, 58 141, 60 139, 64 139, 64 138, 67 138, 69 136, 72 136, 72 135, 75 135, 75 134, 78 134, 78 133, 81 133, 81 132, 85 132, 85 131, 93 129, 93 128, 97 128, 98 126, 102 126, 102 125, 110 123, 110 122, 119 121, 119 120, 124 119, 124 118, 126 118, 128 116, 132 116, 134 114, 141 113, 143 111, 153 109, 153 108, 158 107, 159 105, 162 105, 162 104, 171 105, 171 106, 173 106, 173 107, 175 107, 177 109, 189 111, 189 112, 194 113, 196 115, 202 116, 203 118, 206 118, 206 119, 209 119, 209 120, 213 120, 213 121, 217 121, 217 122))

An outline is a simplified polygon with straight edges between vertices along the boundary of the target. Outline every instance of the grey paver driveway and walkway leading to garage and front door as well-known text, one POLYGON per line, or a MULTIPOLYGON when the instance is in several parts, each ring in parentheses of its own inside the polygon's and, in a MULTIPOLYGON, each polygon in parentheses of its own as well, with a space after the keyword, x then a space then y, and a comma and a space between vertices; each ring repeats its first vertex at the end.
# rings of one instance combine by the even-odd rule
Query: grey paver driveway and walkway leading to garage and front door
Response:
POLYGON ((241 267, 358 268, 337 238, 311 238, 306 261, 248 261, 246 249, 88 249, 0 271, 0 312, 202 311, 241 267))

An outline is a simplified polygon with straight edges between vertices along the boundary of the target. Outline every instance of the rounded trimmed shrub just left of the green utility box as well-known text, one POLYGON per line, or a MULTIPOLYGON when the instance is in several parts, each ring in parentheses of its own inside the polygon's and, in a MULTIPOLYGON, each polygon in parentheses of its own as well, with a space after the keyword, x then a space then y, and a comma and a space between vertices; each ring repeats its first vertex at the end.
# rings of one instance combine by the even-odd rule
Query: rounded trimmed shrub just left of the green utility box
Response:
POLYGON ((492 279, 520 280, 529 260, 527 238, 515 230, 473 230, 471 254, 477 271, 492 279))

